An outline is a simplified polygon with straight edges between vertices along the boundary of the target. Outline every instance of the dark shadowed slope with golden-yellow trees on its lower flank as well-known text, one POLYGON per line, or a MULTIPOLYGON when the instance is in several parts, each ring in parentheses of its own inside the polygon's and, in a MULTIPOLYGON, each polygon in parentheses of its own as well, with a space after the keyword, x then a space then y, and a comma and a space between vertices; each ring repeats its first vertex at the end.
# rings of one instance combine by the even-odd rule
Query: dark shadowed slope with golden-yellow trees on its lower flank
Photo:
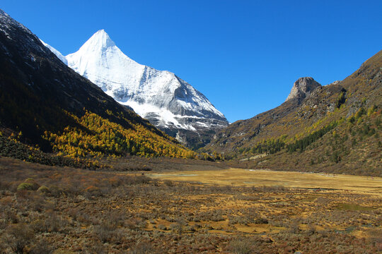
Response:
MULTIPOLYGON (((0 141, 73 158, 195 156, 71 70, 1 10, 0 66, 0 141)), ((1 152, 9 144, 1 143, 1 152)))

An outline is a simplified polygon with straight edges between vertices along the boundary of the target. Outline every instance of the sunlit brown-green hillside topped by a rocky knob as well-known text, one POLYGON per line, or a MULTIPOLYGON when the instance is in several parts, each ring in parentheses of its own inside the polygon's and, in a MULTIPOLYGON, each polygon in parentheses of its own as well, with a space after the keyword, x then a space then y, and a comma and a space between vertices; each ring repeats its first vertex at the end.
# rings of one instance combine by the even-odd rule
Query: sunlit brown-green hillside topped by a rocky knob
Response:
POLYGON ((340 82, 301 78, 286 102, 232 123, 204 150, 241 167, 381 176, 381 71, 382 51, 340 82))

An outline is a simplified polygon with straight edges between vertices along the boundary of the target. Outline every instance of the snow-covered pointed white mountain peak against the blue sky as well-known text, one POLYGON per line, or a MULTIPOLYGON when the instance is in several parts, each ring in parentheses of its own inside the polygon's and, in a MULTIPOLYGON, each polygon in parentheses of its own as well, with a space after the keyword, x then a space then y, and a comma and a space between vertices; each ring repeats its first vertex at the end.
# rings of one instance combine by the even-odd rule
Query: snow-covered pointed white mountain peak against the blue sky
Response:
POLYGON ((228 125, 224 114, 192 85, 174 73, 130 59, 105 30, 96 32, 79 51, 65 59, 70 68, 117 102, 132 107, 154 126, 190 147, 209 143, 217 130, 228 125))

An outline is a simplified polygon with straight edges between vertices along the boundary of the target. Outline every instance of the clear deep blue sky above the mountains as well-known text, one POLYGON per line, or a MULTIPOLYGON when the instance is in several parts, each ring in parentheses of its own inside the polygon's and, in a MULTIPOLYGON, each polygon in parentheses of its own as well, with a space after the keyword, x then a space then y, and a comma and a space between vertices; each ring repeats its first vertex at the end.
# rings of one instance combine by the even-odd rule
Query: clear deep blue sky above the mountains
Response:
POLYGON ((105 29, 130 58, 172 71, 228 121, 284 102, 297 78, 342 80, 382 49, 382 1, 24 1, 0 8, 62 54, 105 29))

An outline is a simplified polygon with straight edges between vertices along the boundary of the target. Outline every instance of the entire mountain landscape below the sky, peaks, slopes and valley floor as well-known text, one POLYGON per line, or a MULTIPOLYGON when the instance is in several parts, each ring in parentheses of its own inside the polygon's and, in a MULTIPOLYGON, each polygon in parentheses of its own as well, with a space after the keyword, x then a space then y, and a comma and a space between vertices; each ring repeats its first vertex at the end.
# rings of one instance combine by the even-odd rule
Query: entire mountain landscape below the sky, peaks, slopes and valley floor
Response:
POLYGON ((228 123, 105 30, 63 56, 0 9, 0 254, 382 253, 382 51, 285 97, 228 123))

